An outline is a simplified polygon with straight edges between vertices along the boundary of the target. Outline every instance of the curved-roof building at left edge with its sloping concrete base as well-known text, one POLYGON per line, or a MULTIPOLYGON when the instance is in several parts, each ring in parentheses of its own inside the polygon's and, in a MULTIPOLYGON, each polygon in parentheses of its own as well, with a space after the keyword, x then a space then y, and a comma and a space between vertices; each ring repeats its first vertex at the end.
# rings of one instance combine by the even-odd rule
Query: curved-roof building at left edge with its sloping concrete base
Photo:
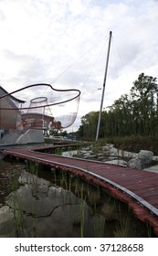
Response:
MULTIPOLYGON (((13 94, 13 93, 12 93, 13 94)), ((20 111, 21 101, 0 86, 0 144, 44 143, 44 133, 33 125, 27 129, 20 111)))

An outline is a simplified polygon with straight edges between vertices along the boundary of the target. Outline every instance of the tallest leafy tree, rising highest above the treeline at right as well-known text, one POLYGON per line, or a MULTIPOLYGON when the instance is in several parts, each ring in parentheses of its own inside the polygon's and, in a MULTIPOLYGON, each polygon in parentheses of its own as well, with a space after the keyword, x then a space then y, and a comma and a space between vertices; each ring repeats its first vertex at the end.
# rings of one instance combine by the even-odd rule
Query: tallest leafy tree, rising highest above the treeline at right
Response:
POLYGON ((158 87, 156 78, 140 74, 138 80, 133 82, 132 95, 132 116, 137 124, 138 133, 152 133, 153 119, 157 119, 156 93, 158 87))

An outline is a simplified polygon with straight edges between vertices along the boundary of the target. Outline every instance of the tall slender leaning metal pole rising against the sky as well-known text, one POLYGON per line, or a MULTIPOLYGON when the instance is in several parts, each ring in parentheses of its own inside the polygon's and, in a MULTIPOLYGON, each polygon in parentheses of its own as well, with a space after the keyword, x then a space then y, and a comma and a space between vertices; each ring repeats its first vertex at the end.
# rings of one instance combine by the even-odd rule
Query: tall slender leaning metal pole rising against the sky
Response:
POLYGON ((100 132, 100 119, 101 119, 102 105, 103 105, 103 100, 104 100, 104 92, 105 92, 105 84, 106 84, 106 79, 107 79, 108 64, 109 64, 109 59, 110 59, 111 36, 112 36, 112 32, 110 31, 107 61, 106 61, 106 66, 105 66, 105 75, 104 75, 104 80, 103 80, 102 96, 101 96, 101 101, 100 101, 100 113, 99 113, 99 120, 98 120, 97 133, 96 133, 96 142, 98 141, 99 132, 100 132))

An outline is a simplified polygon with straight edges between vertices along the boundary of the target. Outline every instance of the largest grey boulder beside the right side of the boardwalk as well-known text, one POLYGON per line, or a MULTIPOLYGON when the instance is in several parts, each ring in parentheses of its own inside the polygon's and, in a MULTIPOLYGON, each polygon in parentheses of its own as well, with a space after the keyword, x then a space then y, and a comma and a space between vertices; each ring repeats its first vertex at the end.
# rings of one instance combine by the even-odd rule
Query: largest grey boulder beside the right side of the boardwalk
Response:
POLYGON ((141 150, 140 153, 128 161, 127 165, 132 169, 141 170, 146 165, 151 164, 153 161, 153 152, 148 150, 141 150))

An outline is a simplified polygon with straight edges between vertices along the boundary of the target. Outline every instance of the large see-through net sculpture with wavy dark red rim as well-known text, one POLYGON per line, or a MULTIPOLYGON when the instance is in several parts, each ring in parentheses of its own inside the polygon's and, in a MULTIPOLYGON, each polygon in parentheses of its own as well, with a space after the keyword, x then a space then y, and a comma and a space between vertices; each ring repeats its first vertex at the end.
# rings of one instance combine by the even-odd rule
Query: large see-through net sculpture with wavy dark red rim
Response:
POLYGON ((57 90, 47 83, 10 93, 0 87, 0 129, 68 128, 76 120, 79 97, 79 90, 57 90))

